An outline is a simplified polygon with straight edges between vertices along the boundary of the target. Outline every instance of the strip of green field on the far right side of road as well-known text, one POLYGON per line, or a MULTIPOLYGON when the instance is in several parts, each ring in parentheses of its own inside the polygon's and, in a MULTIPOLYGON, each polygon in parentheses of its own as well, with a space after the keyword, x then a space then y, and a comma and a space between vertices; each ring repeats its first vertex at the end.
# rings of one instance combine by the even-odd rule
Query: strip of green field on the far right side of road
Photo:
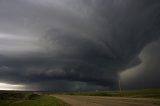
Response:
POLYGON ((109 96, 109 97, 133 97, 133 98, 157 98, 160 99, 160 89, 141 89, 125 91, 92 91, 92 92, 68 92, 67 95, 83 96, 109 96))

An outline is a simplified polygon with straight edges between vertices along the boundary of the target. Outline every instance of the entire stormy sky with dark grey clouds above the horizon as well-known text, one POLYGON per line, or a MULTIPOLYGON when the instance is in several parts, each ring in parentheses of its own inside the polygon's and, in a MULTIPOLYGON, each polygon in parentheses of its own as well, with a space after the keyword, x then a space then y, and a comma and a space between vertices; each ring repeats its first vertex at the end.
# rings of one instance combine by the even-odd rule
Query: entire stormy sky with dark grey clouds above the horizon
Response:
POLYGON ((159 10, 159 0, 0 0, 0 89, 159 88, 159 10))

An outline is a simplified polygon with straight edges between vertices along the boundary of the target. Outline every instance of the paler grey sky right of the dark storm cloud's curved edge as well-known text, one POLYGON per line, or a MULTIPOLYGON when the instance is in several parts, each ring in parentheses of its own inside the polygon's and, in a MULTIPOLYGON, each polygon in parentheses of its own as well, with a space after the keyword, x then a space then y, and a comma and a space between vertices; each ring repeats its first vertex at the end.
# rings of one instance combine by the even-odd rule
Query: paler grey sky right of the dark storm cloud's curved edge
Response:
POLYGON ((160 87, 160 40, 146 46, 140 53, 142 63, 122 73, 123 89, 160 87))

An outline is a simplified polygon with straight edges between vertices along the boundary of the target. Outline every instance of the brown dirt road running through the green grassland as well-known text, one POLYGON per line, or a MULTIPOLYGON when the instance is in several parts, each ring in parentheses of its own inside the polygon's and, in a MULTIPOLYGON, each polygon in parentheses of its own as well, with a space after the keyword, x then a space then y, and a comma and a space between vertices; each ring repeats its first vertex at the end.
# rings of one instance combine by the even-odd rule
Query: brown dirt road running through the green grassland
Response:
POLYGON ((71 106, 160 106, 160 99, 55 95, 71 106))

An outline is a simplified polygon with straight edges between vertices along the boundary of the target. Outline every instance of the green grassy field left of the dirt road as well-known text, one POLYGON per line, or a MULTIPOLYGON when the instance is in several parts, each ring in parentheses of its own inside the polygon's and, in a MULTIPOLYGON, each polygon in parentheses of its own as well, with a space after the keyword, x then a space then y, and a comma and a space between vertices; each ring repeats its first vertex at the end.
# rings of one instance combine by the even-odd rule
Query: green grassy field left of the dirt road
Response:
POLYGON ((0 106, 69 106, 68 104, 45 94, 22 92, 1 92, 0 106))

